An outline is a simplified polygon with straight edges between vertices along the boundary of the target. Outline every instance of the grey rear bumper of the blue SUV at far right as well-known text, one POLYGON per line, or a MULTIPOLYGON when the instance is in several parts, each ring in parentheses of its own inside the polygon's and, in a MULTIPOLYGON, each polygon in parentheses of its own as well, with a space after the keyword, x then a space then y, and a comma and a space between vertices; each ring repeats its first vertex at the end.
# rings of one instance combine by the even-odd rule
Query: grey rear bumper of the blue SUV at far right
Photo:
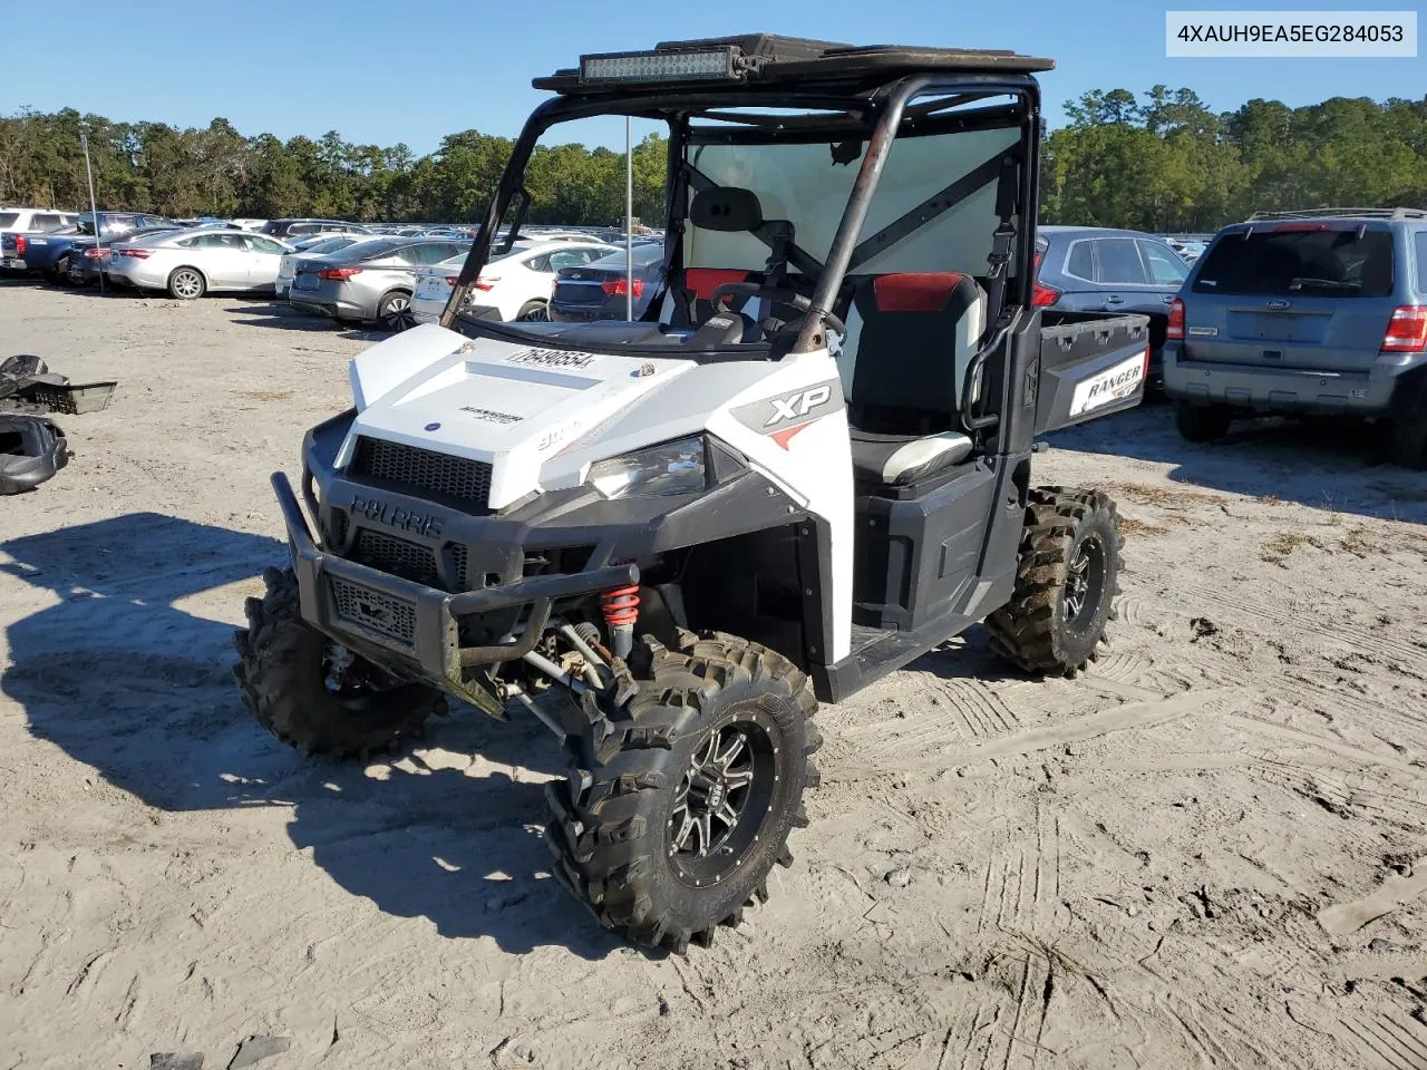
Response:
POLYGON ((1199 405, 1254 412, 1380 417, 1393 409, 1398 378, 1424 361, 1374 364, 1367 371, 1270 368, 1186 360, 1183 342, 1172 341, 1164 345, 1164 392, 1199 405))

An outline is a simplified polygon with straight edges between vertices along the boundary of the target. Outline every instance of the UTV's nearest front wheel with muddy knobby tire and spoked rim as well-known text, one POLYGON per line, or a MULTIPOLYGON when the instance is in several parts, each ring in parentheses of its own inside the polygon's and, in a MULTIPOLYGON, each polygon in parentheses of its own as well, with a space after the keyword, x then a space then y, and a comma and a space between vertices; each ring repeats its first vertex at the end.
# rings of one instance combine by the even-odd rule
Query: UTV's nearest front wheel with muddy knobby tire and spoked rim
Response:
POLYGON ((639 691, 572 740, 547 786, 555 876, 602 926, 684 953, 766 900, 818 773, 808 678, 758 643, 715 633, 681 651, 646 638, 639 691))

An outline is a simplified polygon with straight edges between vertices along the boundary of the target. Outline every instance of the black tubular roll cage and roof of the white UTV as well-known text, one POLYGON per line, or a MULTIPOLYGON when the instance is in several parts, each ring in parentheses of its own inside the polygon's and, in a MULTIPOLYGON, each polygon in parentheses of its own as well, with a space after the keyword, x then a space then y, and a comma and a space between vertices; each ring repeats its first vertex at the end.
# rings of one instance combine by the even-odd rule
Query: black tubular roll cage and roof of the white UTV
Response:
MULTIPOLYGON (((819 143, 839 137, 856 141, 859 147, 860 143, 866 144, 826 261, 818 264, 805 258, 801 268, 812 267, 818 278, 793 352, 806 352, 825 344, 823 324, 833 311, 849 270, 992 181, 1000 183, 996 195, 1000 225, 996 230, 992 271, 1003 272, 1013 257, 1016 264, 1030 264, 1036 205, 1035 197, 1027 191, 1037 188, 1042 126, 1040 90, 1032 76, 1053 66, 1052 60, 1005 50, 852 47, 768 34, 669 41, 656 46, 652 53, 585 56, 579 70, 559 70, 534 80, 535 88, 552 90, 558 96, 537 107, 527 120, 471 253, 457 277, 441 324, 455 330, 471 285, 489 260, 494 237, 517 197, 524 200, 509 233, 519 231, 529 207, 524 174, 541 134, 557 123, 608 114, 664 121, 669 127, 665 287, 672 277, 671 268, 679 267, 682 257, 686 183, 699 181, 696 171, 685 163, 689 146, 819 143), (696 78, 669 77, 639 83, 604 81, 589 76, 601 61, 636 64, 649 57, 714 53, 726 57, 726 67, 714 76, 704 73, 696 78), (930 94, 936 94, 935 98, 915 106, 910 103, 930 94), (977 100, 1006 96, 1013 97, 1015 103, 956 110, 977 100), (742 107, 833 114, 748 116, 731 111, 742 107), (729 128, 696 128, 691 120, 722 123, 729 128), (938 194, 858 243, 883 164, 898 137, 1015 126, 1023 130, 1019 147, 997 153, 966 174, 952 175, 952 181, 938 194)), ((789 251, 792 263, 798 264, 801 251, 796 247, 789 251)), ((1030 302, 1030 272, 1022 270, 1015 280, 1003 277, 1003 282, 1012 281, 1015 288, 1007 288, 1003 302, 996 302, 1000 310, 1027 307, 1030 302)), ((659 304, 656 295, 649 301, 645 315, 658 315, 659 304)), ((1006 324, 1000 318, 999 310, 993 310, 989 317, 987 351, 1003 337, 1006 324)))

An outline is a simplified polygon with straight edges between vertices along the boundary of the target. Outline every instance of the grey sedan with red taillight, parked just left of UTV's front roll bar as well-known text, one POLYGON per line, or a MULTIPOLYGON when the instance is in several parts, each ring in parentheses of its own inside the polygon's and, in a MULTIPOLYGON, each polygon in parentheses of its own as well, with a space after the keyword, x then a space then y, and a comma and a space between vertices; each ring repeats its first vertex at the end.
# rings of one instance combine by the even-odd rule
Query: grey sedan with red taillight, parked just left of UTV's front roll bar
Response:
POLYGON ((293 271, 288 301, 304 312, 337 321, 377 320, 388 331, 402 331, 412 325, 417 268, 440 264, 468 248, 465 241, 374 238, 328 257, 303 258, 293 271))

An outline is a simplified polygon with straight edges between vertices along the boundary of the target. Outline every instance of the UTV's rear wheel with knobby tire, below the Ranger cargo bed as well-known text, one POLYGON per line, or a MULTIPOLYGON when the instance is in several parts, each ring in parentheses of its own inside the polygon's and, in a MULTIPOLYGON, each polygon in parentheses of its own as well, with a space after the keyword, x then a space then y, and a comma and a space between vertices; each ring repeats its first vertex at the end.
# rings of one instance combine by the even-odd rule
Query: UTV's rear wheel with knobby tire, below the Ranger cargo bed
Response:
POLYGON ((1099 491, 1030 492, 1010 602, 986 618, 992 646, 1037 675, 1075 676, 1097 659, 1120 592, 1120 518, 1099 491))

